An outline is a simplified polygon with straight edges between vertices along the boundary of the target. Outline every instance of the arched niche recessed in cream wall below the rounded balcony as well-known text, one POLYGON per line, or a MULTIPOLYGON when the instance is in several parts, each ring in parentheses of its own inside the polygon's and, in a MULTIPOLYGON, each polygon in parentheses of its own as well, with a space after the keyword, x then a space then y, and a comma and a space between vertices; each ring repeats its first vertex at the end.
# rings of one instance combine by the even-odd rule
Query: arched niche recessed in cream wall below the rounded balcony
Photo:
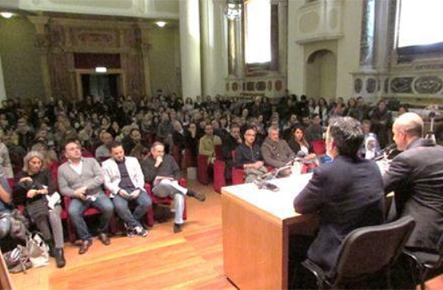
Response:
POLYGON ((337 59, 331 50, 317 50, 306 64, 306 94, 308 97, 335 97, 337 59))

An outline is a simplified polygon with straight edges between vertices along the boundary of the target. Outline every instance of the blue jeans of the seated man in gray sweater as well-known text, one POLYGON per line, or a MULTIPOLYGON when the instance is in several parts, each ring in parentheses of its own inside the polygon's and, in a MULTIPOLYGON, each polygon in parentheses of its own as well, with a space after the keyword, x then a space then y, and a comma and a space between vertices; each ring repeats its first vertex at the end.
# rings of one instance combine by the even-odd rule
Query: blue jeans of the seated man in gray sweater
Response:
POLYGON ((100 224, 98 225, 98 233, 106 233, 109 220, 112 218, 112 213, 114 212, 114 206, 111 200, 105 193, 99 193, 96 195, 97 199, 95 201, 91 200, 79 200, 78 198, 71 199, 69 204, 69 217, 71 218, 77 235, 80 240, 91 240, 91 233, 88 231, 88 226, 84 222, 83 213, 89 207, 93 206, 102 213, 100 217, 100 224))

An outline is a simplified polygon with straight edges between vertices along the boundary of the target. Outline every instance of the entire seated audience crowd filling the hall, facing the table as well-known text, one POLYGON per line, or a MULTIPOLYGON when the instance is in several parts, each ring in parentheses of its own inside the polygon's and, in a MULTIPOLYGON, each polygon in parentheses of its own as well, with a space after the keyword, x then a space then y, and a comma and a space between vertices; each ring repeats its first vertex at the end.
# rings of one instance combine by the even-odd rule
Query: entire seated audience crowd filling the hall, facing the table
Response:
MULTIPOLYGON (((174 233, 182 230, 186 195, 203 202, 205 196, 181 184, 181 164, 170 154, 177 148, 195 160, 198 154, 215 159, 221 145, 226 177, 229 168, 244 168, 246 181, 293 159, 300 151, 314 159, 311 142, 325 139, 334 117, 348 116, 366 124, 365 135, 378 137, 379 146, 391 139, 392 114, 385 101, 371 107, 363 97, 318 101, 285 95, 277 103, 267 97, 239 99, 210 96, 182 99, 159 90, 151 98, 118 99, 87 96, 82 101, 2 101, 0 110, 1 209, 24 206, 55 256, 66 263, 60 195, 86 253, 92 238, 83 211, 91 206, 102 213, 98 238, 110 244, 107 228, 116 214, 127 235, 146 236, 141 218, 152 205, 145 183, 158 197, 172 197, 174 233), (233 154, 234 152, 234 154, 233 154), (108 194, 105 193, 108 192, 108 194), (134 206, 130 206, 133 204, 134 206)), ((405 109, 405 108, 404 108, 405 109)), ((407 110, 407 109, 406 109, 407 110)), ((364 142, 363 142, 364 143, 364 142)), ((364 155, 360 148, 359 155, 364 155)), ((284 176, 288 173, 280 172, 284 176)), ((0 225, 1 226, 1 225, 0 225)))

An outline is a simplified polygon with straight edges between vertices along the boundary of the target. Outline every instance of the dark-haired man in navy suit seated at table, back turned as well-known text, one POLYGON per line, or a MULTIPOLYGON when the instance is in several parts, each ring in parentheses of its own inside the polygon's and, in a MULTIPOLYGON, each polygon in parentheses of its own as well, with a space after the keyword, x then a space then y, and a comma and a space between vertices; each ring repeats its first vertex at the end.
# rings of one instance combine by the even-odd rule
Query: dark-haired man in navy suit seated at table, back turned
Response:
POLYGON ((293 200, 298 213, 320 216, 320 228, 307 257, 331 274, 345 236, 384 220, 381 173, 374 162, 357 157, 361 142, 363 131, 358 121, 334 119, 326 133, 327 154, 333 162, 316 168, 293 200))

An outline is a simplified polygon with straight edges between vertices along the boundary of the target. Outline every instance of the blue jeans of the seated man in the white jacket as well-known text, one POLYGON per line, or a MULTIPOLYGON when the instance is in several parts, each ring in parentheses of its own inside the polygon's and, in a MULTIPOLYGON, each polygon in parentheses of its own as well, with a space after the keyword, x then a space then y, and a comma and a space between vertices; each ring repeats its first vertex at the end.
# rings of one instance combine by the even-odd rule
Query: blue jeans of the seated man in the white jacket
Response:
POLYGON ((152 206, 152 200, 146 191, 141 191, 136 200, 127 200, 121 195, 116 195, 112 199, 118 216, 131 228, 141 226, 140 220, 147 212, 147 209, 152 206), (129 210, 129 204, 136 204, 134 213, 129 210))

